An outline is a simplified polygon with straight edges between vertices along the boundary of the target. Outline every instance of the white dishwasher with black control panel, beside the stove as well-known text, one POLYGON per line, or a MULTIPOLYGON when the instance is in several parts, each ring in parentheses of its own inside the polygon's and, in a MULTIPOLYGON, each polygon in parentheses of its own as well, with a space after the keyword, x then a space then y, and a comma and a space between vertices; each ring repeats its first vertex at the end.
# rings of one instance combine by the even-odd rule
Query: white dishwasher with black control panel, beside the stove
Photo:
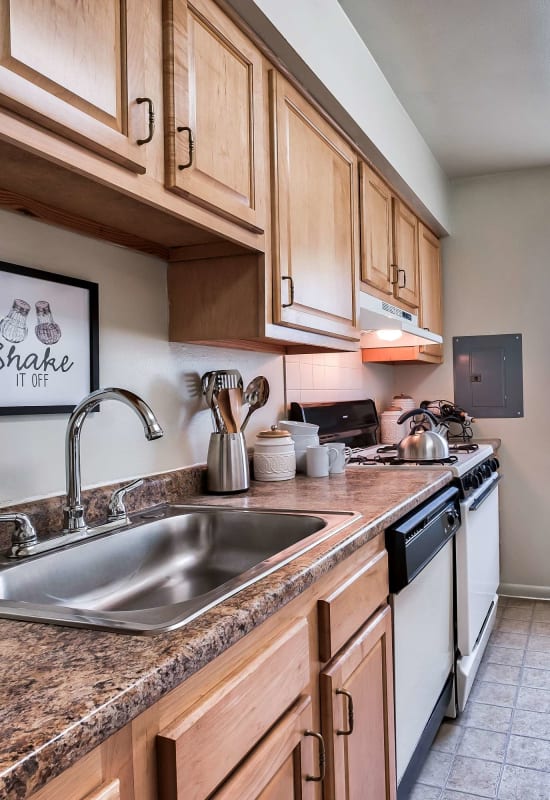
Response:
POLYGON ((409 796, 454 694, 458 498, 448 487, 386 531, 398 800, 409 796))

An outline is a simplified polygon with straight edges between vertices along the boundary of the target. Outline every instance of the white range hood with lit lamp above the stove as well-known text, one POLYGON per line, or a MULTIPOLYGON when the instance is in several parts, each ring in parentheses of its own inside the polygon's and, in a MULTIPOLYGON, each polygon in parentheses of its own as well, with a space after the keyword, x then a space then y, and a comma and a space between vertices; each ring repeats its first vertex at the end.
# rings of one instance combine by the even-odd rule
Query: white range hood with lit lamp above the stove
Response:
POLYGON ((438 333, 418 327, 418 317, 366 292, 359 293, 361 347, 418 347, 441 344, 438 333))

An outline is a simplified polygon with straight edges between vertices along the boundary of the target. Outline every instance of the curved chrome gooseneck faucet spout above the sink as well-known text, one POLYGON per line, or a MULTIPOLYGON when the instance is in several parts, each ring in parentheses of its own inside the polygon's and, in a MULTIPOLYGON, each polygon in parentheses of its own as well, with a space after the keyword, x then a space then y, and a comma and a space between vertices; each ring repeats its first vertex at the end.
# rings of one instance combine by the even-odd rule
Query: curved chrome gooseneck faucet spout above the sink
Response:
POLYGON ((145 437, 152 441, 160 439, 163 430, 150 406, 145 400, 128 389, 98 389, 85 397, 74 409, 67 424, 65 436, 65 475, 67 481, 67 505, 63 509, 65 531, 85 533, 88 529, 82 506, 82 487, 80 476, 80 433, 84 420, 103 400, 118 400, 130 406, 143 424, 145 437))

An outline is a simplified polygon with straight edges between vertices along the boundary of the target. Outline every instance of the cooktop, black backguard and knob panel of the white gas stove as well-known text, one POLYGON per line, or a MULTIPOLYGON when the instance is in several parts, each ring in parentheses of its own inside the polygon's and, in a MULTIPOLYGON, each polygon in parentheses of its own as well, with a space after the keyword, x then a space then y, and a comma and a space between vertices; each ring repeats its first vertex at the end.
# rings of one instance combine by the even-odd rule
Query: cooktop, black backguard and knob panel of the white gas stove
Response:
POLYGON ((370 399, 299 405, 292 403, 290 419, 319 425, 319 441, 345 442, 352 449, 348 469, 373 467, 392 469, 448 469, 455 476, 461 497, 469 497, 485 482, 495 478, 499 467, 488 444, 458 442, 449 444, 449 458, 438 461, 402 461, 397 444, 376 444, 378 415, 370 399))

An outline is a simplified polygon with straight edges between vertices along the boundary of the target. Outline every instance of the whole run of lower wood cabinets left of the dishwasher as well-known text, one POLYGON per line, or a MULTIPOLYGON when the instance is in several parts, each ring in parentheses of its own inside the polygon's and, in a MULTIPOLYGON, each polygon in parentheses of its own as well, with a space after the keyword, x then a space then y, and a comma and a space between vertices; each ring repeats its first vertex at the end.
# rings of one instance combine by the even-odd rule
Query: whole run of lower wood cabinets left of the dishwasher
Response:
POLYGON ((395 800, 382 545, 365 544, 32 800, 395 800))

